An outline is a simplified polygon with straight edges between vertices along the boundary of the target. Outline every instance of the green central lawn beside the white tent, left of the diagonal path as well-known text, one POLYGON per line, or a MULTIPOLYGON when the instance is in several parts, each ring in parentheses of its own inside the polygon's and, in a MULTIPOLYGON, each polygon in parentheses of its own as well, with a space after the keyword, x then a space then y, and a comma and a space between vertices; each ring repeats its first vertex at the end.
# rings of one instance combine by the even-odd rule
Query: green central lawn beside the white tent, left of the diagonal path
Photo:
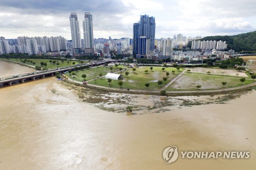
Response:
MULTIPOLYGON (((153 70, 151 71, 150 67, 137 67, 136 71, 133 71, 132 68, 128 70, 122 70, 122 72, 119 72, 118 74, 121 74, 123 76, 123 85, 121 88, 123 89, 137 89, 137 90, 146 90, 145 83, 150 83, 150 86, 148 87, 148 90, 159 90, 163 86, 165 86, 168 82, 170 82, 173 78, 175 78, 177 75, 180 74, 180 72, 183 69, 180 69, 180 71, 177 71, 176 68, 165 68, 164 71, 162 71, 162 67, 153 67, 153 70), (147 74, 144 70, 148 70, 147 74), (174 74, 172 74, 172 70, 175 70, 174 74), (125 75, 125 71, 129 72, 129 75, 125 75), (169 76, 167 81, 164 83, 163 77, 166 76, 166 72, 169 72, 169 76), (157 84, 158 80, 163 81, 163 85, 159 86, 157 84)), ((111 87, 111 88, 120 88, 118 85, 117 80, 112 80, 111 85, 109 85, 109 82, 105 78, 97 79, 95 81, 88 82, 89 84, 95 84, 98 86, 104 86, 104 87, 111 87)))

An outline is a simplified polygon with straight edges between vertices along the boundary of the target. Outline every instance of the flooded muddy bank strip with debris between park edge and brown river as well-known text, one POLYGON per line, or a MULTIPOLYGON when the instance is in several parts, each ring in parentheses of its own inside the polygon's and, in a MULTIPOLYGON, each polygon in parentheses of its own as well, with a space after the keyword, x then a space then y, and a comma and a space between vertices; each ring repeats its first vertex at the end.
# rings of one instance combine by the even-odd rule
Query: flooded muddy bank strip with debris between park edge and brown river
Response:
MULTIPOLYGON (((168 93, 160 96, 156 92, 120 91, 116 89, 95 88, 78 83, 63 81, 68 89, 74 90, 79 99, 101 110, 127 114, 126 107, 132 106, 132 114, 160 113, 195 105, 225 104, 227 101, 240 98, 256 86, 220 92, 168 93)), ((129 114, 129 113, 128 113, 129 114)))

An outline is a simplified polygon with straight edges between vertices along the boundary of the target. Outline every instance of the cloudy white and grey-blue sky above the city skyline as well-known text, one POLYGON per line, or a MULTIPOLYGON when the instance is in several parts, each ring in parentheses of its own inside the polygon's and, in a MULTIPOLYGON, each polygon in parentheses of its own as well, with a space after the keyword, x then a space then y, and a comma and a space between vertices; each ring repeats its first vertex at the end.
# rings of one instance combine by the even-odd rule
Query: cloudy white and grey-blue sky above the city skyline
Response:
POLYGON ((84 12, 93 15, 94 38, 132 38, 133 23, 144 14, 155 17, 156 38, 256 30, 255 0, 0 0, 0 36, 71 39, 71 12, 80 25, 84 12))

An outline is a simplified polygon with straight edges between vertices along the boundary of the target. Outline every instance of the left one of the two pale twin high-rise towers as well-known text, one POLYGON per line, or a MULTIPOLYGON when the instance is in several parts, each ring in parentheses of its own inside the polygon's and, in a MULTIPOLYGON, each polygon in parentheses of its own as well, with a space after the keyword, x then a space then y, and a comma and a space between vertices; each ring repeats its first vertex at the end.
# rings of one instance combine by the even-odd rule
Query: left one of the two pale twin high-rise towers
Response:
POLYGON ((82 42, 81 42, 79 21, 77 19, 77 15, 75 12, 72 12, 70 14, 69 20, 70 20, 70 29, 71 29, 71 38, 72 38, 73 48, 81 48, 82 42))

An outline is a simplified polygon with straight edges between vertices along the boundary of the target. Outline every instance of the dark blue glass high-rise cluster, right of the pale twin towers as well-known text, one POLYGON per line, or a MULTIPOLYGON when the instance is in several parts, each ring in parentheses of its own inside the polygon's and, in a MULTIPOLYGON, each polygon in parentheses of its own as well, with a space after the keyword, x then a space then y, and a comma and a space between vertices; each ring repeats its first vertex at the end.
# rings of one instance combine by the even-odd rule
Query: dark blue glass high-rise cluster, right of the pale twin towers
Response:
MULTIPOLYGON (((134 23, 133 25, 133 52, 134 54, 139 54, 140 52, 138 50, 139 43, 138 39, 140 37, 146 37, 146 39, 150 43, 150 51, 155 50, 155 33, 156 33, 156 22, 155 22, 155 17, 151 16, 149 17, 148 15, 141 15, 140 16, 140 21, 139 23, 134 23)), ((148 43, 147 43, 148 44, 148 43)), ((146 47, 146 46, 144 46, 146 47)), ((143 51, 146 51, 144 49, 143 51)))

